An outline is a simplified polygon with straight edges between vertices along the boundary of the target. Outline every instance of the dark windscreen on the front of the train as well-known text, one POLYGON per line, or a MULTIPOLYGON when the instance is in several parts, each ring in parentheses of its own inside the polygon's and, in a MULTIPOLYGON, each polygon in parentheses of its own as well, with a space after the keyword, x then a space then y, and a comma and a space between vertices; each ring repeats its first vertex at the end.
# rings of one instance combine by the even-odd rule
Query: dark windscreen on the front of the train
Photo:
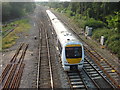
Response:
POLYGON ((66 54, 66 58, 82 58, 82 48, 66 47, 65 54, 66 54))

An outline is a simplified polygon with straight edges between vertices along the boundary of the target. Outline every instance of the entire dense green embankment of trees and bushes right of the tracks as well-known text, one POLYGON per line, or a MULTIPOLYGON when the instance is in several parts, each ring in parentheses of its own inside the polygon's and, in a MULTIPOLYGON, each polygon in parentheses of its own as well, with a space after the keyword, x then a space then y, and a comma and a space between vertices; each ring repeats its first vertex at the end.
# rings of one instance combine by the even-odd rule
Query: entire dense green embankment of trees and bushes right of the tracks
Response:
POLYGON ((105 36, 105 46, 120 58, 119 2, 62 2, 43 3, 73 19, 78 27, 93 27, 92 38, 105 36))

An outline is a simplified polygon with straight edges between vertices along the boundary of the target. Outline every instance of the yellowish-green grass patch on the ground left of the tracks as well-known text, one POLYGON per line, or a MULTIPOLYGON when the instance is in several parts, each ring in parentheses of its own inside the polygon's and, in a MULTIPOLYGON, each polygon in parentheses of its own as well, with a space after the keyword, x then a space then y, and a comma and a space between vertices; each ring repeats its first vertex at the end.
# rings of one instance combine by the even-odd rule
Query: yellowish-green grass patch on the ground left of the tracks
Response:
MULTIPOLYGON (((22 19, 12 22, 13 24, 18 24, 18 26, 14 29, 13 32, 11 32, 5 38, 2 39, 2 50, 13 46, 16 43, 16 39, 19 38, 19 33, 27 32, 30 29, 31 26, 28 22, 28 19, 22 19)), ((10 27, 6 27, 6 29, 8 28, 10 27)))

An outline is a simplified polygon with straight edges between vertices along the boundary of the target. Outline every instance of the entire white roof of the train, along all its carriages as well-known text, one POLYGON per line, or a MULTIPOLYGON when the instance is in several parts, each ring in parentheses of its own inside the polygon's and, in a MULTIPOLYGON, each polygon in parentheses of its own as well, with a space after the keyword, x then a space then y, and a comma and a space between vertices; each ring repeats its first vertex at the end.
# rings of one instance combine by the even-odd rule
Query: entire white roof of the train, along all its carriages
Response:
POLYGON ((71 31, 51 11, 46 12, 51 19, 57 38, 59 39, 62 47, 70 43, 75 44, 75 42, 76 44, 81 44, 75 35, 71 33, 71 31))

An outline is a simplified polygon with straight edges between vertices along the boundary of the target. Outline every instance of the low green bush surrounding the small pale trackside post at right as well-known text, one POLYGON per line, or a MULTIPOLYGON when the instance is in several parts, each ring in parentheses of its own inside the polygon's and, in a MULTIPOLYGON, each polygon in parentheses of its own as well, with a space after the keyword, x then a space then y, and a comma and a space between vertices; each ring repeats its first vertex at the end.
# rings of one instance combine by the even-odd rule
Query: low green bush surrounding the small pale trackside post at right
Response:
POLYGON ((120 53, 120 35, 115 32, 113 29, 99 28, 94 30, 92 38, 100 41, 100 37, 105 37, 105 45, 112 52, 118 55, 120 53))

